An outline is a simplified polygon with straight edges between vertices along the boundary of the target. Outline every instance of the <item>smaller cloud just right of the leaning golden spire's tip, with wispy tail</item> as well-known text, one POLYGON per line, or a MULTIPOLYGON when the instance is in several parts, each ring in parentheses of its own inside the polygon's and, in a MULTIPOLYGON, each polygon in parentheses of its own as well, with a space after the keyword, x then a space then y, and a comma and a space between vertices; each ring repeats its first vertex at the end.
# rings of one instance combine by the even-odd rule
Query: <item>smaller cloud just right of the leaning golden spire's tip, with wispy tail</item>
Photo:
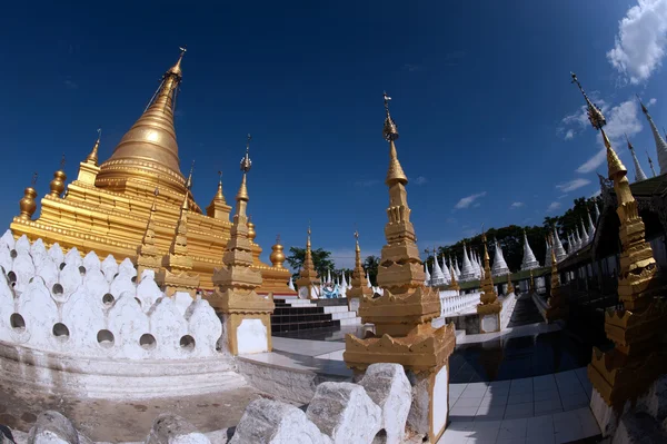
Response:
MULTIPOLYGON (((620 102, 610 109, 607 106, 604 106, 603 112, 605 112, 607 118, 605 132, 607 134, 609 141, 611 141, 611 146, 618 146, 619 142, 623 142, 625 135, 631 137, 641 131, 643 127, 638 117, 639 107, 637 100, 634 98, 620 102)), ((577 168, 577 172, 586 174, 594 171, 607 159, 601 134, 597 135, 597 141, 601 147, 600 150, 590 159, 581 164, 579 168, 577 168)))

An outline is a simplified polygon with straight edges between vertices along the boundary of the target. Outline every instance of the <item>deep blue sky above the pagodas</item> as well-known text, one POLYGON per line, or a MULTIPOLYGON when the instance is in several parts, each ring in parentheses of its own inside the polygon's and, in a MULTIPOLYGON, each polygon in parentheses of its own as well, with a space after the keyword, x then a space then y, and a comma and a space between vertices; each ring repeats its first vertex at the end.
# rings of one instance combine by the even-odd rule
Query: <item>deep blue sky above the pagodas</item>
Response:
POLYGON ((176 126, 199 204, 218 170, 233 198, 250 132, 257 240, 302 246, 310 219, 313 247, 342 266, 355 226, 364 254, 384 244, 385 89, 421 249, 482 223, 539 225, 599 189, 600 145, 570 70, 604 105, 626 166, 624 131, 645 171, 646 149, 657 167, 635 93, 667 126, 665 0, 42 3, 0 18, 4 226, 33 171, 40 197, 63 152, 76 176, 100 126, 111 155, 182 45, 176 126))

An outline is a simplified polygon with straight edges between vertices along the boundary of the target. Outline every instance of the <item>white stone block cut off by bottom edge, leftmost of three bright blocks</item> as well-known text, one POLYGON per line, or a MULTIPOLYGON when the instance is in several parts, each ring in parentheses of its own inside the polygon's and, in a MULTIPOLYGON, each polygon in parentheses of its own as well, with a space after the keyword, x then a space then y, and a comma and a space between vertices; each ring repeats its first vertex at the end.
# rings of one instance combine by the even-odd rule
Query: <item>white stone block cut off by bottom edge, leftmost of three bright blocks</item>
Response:
POLYGON ((331 440, 293 405, 260 398, 248 404, 229 444, 259 443, 329 444, 331 440))

